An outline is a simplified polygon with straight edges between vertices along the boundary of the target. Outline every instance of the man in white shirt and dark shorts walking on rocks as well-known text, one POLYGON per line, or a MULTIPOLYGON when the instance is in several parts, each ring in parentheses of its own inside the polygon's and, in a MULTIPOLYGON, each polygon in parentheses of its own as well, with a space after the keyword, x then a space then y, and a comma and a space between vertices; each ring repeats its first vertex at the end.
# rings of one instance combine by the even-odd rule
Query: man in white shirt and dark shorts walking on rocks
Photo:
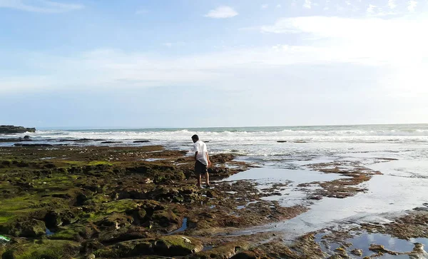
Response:
POLYGON ((205 174, 207 187, 210 187, 210 176, 207 168, 211 166, 210 157, 208 156, 207 145, 199 140, 198 135, 192 136, 193 146, 195 147, 195 174, 198 178, 198 187, 200 187, 200 178, 205 174))

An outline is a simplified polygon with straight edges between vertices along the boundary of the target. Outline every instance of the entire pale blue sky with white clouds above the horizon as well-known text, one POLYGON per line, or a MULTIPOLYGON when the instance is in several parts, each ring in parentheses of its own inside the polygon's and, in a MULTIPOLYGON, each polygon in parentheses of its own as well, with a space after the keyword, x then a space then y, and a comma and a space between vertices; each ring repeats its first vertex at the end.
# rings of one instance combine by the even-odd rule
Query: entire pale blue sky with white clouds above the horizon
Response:
POLYGON ((0 0, 0 124, 427 123, 428 0, 0 0))

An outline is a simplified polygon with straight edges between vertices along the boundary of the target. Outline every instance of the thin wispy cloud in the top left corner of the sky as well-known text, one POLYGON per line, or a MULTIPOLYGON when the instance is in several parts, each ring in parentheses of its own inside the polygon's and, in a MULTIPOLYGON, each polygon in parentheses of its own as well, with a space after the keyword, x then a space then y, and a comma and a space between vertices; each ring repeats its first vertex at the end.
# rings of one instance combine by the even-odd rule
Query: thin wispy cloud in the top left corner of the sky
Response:
POLYGON ((58 14, 66 11, 83 9, 81 4, 63 4, 57 1, 34 0, 32 4, 24 4, 22 0, 0 0, 0 8, 18 9, 46 14, 58 14))

